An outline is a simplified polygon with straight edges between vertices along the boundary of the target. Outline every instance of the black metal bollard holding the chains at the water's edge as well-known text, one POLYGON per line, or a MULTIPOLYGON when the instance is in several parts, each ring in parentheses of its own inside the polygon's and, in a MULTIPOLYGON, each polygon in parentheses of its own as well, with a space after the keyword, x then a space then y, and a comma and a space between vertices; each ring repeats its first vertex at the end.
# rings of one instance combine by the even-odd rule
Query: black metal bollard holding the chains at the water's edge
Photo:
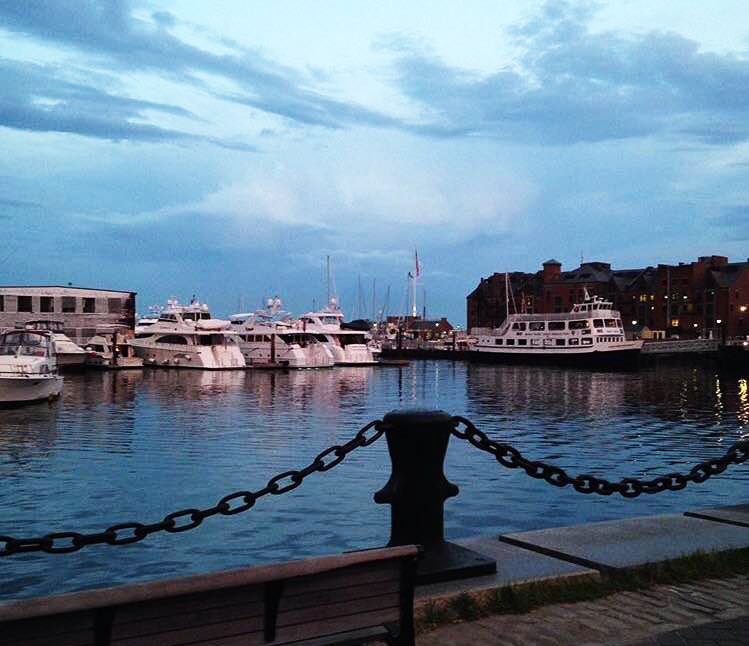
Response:
POLYGON ((444 411, 406 409, 383 418, 392 473, 374 495, 391 507, 388 546, 417 544, 424 548, 417 581, 433 583, 492 574, 496 561, 445 541, 445 500, 458 487, 445 477, 443 465, 452 430, 444 411))

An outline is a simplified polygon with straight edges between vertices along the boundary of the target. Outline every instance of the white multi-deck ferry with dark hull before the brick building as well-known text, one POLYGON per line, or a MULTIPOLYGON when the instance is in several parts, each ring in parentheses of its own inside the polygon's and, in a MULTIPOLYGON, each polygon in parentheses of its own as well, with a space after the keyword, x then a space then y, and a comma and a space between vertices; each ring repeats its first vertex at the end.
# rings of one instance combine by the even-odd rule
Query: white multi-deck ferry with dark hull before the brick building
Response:
POLYGON ((496 330, 477 335, 473 352, 482 358, 614 364, 637 359, 641 340, 624 336, 613 304, 589 296, 567 314, 510 314, 496 330))

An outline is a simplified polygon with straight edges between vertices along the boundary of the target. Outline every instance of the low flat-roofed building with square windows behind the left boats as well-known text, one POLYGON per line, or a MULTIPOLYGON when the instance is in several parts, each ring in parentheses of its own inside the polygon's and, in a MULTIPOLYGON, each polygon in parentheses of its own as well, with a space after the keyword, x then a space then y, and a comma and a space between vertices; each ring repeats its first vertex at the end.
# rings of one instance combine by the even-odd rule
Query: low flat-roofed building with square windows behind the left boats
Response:
POLYGON ((98 329, 135 327, 135 292, 72 286, 0 286, 0 328, 28 321, 62 321, 65 334, 84 344, 98 329))

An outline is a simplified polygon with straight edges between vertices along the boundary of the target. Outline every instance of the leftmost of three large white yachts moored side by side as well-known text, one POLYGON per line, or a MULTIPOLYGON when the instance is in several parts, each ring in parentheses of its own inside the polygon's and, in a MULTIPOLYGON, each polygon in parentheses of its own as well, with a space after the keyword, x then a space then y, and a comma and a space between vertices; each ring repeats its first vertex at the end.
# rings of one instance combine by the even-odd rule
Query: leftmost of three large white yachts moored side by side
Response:
POLYGON ((240 369, 246 366, 229 321, 215 319, 208 306, 193 299, 170 299, 156 323, 140 328, 129 341, 144 366, 240 369))

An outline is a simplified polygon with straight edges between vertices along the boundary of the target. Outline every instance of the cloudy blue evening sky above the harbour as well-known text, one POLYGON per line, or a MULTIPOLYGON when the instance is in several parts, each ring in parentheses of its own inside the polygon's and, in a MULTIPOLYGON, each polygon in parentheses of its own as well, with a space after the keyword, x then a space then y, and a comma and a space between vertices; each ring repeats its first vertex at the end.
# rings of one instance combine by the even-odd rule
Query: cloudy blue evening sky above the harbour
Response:
POLYGON ((0 284, 465 323, 749 256, 745 0, 0 0, 0 284), (389 294, 389 297, 386 298, 389 294))

